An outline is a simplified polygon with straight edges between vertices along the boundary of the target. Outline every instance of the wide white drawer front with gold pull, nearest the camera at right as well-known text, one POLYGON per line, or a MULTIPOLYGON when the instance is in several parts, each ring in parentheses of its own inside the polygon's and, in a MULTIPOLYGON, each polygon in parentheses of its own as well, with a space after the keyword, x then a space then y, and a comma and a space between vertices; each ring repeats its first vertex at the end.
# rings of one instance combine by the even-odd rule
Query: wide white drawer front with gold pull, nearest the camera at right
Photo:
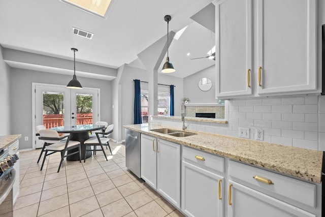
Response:
POLYGON ((258 191, 261 191, 262 188, 262 191, 266 194, 272 192, 310 207, 316 206, 316 185, 312 183, 235 161, 229 161, 229 175, 234 179, 249 183, 250 187, 258 191))

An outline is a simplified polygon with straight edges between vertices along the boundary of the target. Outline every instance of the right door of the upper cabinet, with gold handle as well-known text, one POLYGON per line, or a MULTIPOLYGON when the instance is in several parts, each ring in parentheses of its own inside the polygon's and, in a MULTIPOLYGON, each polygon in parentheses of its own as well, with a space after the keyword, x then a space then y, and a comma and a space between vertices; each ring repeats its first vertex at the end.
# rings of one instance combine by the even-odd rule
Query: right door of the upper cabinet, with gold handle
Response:
POLYGON ((316 0, 257 0, 258 94, 316 89, 316 0))

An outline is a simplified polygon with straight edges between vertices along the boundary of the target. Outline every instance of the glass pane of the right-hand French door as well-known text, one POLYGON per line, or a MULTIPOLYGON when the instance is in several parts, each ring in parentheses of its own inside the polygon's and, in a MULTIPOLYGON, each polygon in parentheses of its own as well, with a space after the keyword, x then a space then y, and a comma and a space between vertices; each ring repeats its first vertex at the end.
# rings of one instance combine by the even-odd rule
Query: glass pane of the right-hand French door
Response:
POLYGON ((92 124, 92 94, 76 94, 76 125, 92 124))

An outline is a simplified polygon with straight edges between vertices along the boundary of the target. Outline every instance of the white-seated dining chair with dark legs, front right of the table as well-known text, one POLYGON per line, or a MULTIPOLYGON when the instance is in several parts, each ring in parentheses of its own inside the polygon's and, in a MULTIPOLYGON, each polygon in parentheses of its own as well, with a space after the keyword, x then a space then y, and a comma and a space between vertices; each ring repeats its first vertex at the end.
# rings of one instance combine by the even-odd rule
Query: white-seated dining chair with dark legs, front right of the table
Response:
MULTIPOLYGON (((86 141, 83 142, 83 144, 86 146, 93 146, 93 154, 96 154, 96 150, 97 150, 96 146, 101 146, 101 149, 99 149, 99 150, 103 151, 105 159, 106 159, 106 161, 108 161, 103 145, 107 145, 110 149, 111 154, 113 154, 112 150, 111 150, 110 143, 109 143, 110 138, 107 138, 107 136, 109 136, 113 132, 113 128, 114 128, 114 125, 110 125, 106 128, 106 130, 104 132, 102 132, 102 133, 96 132, 95 133, 96 137, 87 139, 86 141), (103 135, 103 137, 101 137, 100 135, 103 135)), ((86 162, 86 152, 87 151, 85 151, 84 162, 86 162)))

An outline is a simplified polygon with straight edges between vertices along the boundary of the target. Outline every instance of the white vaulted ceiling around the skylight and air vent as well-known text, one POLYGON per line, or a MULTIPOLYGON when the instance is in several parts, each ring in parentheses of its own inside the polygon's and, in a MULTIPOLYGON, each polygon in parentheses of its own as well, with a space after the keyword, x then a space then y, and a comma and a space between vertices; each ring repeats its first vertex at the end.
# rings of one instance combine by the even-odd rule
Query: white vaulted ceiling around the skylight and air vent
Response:
POLYGON ((178 40, 172 41, 169 50, 177 70, 171 75, 186 77, 214 64, 208 58, 190 60, 206 56, 214 46, 214 33, 190 18, 211 1, 114 0, 105 18, 59 0, 1 1, 0 45, 69 60, 73 59, 70 48, 75 47, 79 49, 76 60, 82 63, 113 69, 123 64, 141 67, 135 64, 137 54, 166 36, 164 16, 169 14, 170 30, 178 32, 188 26, 178 40), (73 27, 94 36, 91 40, 76 36, 73 27))

